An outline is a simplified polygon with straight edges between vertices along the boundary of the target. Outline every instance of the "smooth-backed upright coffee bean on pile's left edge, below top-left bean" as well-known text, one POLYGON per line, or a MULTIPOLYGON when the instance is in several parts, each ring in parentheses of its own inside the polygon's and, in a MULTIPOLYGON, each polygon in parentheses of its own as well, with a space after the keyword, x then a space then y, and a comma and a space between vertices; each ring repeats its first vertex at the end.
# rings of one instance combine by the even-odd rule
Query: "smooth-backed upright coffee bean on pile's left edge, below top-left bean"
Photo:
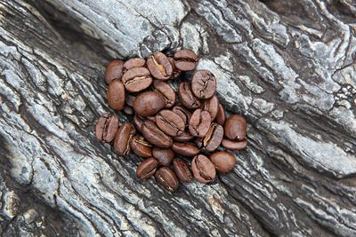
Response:
POLYGON ((122 110, 125 107, 125 87, 120 80, 115 79, 109 83, 106 96, 112 109, 122 110))

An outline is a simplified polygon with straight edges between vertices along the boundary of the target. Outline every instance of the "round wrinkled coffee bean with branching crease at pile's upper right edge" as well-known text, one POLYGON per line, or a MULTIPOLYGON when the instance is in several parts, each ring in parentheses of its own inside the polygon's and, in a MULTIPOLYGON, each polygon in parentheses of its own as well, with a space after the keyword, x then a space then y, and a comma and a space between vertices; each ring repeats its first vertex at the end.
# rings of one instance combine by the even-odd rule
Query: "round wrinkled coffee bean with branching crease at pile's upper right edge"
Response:
POLYGON ((208 70, 198 70, 191 79, 191 91, 198 99, 209 99, 216 91, 216 79, 208 70))

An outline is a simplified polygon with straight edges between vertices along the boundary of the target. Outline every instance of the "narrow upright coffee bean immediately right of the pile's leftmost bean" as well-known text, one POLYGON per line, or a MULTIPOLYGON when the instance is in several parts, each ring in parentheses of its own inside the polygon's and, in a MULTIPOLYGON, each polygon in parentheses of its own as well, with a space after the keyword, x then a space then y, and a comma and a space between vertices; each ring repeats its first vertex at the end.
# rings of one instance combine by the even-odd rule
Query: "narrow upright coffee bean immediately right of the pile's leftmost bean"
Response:
POLYGON ((130 152, 130 141, 134 137, 133 124, 126 122, 118 130, 115 135, 114 149, 118 155, 126 155, 130 152))

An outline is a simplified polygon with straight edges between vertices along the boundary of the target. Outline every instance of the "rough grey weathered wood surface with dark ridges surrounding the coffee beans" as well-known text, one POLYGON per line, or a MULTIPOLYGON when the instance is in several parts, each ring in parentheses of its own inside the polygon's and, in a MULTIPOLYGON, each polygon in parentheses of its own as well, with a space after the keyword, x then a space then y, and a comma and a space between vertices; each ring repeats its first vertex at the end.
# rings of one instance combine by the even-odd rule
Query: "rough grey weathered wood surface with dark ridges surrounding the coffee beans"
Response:
POLYGON ((0 0, 0 233, 356 236, 355 32, 353 0, 0 0), (109 59, 182 46, 249 145, 168 194, 93 124, 109 59))

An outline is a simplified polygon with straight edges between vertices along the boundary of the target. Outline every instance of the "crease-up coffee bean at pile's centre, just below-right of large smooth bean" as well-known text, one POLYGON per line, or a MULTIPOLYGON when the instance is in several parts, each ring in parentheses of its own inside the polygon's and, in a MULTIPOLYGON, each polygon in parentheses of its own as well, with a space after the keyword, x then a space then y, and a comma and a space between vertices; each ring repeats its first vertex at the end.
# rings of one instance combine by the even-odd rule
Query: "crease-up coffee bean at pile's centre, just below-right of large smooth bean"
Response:
POLYGON ((163 130, 168 136, 179 136, 185 128, 182 118, 171 110, 161 110, 156 115, 156 123, 160 130, 163 130))

